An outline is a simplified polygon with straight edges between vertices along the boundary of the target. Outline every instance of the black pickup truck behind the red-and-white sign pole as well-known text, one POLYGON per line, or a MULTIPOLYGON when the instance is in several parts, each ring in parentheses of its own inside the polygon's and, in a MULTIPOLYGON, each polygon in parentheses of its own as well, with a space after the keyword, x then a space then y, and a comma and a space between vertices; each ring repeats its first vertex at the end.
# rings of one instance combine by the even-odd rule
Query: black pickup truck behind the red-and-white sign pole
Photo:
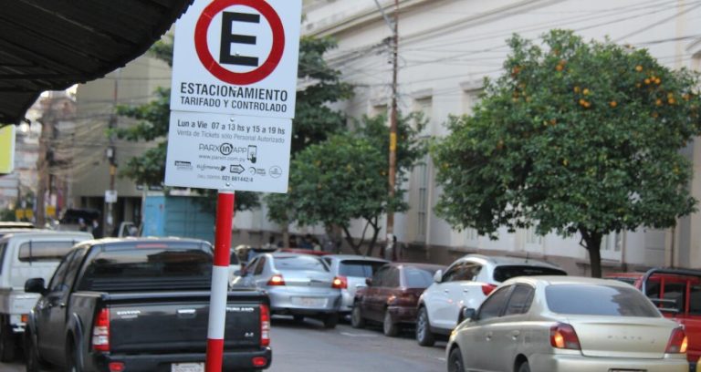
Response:
MULTIPOLYGON (((26 326, 27 372, 204 372, 212 261, 199 240, 78 243, 48 285, 26 282, 42 294, 26 326)), ((269 320, 266 294, 228 294, 223 370, 270 366, 269 320)))

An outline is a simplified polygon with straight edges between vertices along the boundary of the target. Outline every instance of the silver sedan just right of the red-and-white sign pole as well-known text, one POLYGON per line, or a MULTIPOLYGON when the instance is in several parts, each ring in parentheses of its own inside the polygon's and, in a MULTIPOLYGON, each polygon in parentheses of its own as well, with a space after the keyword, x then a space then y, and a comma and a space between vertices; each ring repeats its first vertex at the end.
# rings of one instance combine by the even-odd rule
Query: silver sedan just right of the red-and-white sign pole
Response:
POLYGON ((265 290, 272 314, 293 315, 297 321, 316 317, 327 328, 339 323, 340 284, 318 256, 260 254, 246 265, 236 285, 265 290))

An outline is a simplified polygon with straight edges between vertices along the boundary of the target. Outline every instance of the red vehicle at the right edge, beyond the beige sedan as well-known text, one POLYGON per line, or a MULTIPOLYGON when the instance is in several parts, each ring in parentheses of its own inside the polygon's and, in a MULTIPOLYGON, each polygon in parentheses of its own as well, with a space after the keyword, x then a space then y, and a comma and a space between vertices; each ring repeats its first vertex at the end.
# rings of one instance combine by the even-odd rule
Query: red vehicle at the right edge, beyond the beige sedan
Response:
POLYGON ((692 370, 701 356, 701 271, 651 269, 646 273, 606 275, 632 284, 650 298, 662 314, 684 325, 688 348, 686 355, 692 370))

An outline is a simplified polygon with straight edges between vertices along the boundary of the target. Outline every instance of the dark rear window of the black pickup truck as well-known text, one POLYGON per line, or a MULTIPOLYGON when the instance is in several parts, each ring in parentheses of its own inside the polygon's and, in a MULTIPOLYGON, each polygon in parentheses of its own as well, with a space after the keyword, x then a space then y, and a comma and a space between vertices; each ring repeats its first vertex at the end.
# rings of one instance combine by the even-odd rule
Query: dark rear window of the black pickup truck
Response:
POLYGON ((209 290, 212 255, 200 249, 133 249, 98 253, 82 291, 209 290))

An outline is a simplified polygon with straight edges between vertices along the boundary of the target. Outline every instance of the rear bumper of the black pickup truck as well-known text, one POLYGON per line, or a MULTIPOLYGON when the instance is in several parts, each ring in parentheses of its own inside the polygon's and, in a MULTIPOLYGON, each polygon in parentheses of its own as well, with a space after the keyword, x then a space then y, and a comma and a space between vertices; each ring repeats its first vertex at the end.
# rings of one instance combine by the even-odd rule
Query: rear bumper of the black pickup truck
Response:
MULTIPOLYGON (((171 372, 174 363, 202 363, 205 354, 164 354, 164 355, 110 355, 103 354, 93 356, 93 366, 86 366, 86 371, 108 372, 110 363, 120 362, 124 364, 124 371, 129 372, 171 372)), ((273 360, 273 352, 270 347, 253 350, 225 351, 222 370, 240 369, 266 369, 273 360), (254 367, 254 357, 265 357, 265 367, 254 367)), ((203 369, 204 370, 204 369, 203 369)))

